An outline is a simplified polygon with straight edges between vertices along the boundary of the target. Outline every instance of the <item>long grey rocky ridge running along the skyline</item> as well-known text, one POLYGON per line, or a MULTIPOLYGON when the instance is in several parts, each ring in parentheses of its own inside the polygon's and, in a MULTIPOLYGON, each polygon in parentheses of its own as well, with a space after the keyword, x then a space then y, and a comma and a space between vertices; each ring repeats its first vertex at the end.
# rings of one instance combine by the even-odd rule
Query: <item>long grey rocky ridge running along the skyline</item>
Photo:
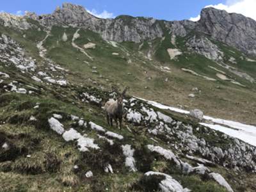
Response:
MULTIPOLYGON (((37 20, 45 28, 52 26, 72 26, 90 29, 99 33, 105 40, 115 42, 143 42, 166 35, 166 31, 175 36, 186 36, 191 31, 202 33, 214 40, 236 47, 246 54, 256 55, 256 21, 237 13, 227 13, 215 8, 205 8, 198 22, 190 20, 166 21, 148 17, 131 17, 120 15, 115 19, 100 19, 88 13, 83 6, 63 3, 52 14, 36 15, 26 13, 24 17, 1 13, 0 23, 19 29, 29 29, 33 24, 26 19, 37 20)), ((202 45, 202 39, 199 39, 202 45)), ((190 40, 191 42, 191 40, 190 40)), ((204 39, 204 49, 209 48, 210 41, 204 39)), ((191 43, 195 43, 192 41, 191 43)), ((195 44, 191 46, 195 47, 195 44)), ((212 47, 212 46, 211 46, 212 47)), ((218 56, 212 55, 216 59, 218 56)))

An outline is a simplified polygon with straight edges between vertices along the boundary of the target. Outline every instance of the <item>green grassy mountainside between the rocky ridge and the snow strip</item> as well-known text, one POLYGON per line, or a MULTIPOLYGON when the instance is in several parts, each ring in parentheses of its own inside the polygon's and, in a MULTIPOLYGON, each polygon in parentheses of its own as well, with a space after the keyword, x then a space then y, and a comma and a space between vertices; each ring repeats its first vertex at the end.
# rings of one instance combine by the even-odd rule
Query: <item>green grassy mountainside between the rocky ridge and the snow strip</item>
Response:
MULTIPOLYGON (((255 114, 255 102, 253 102, 255 100, 255 85, 241 77, 230 74, 230 72, 203 56, 187 53, 184 48, 184 38, 177 39, 177 46, 185 52, 182 56, 179 56, 179 60, 170 61, 169 59, 166 49, 173 48, 173 45, 170 44, 170 38, 167 35, 163 42, 160 39, 152 42, 156 59, 150 61, 145 58, 149 49, 147 42, 144 42, 140 50, 144 54, 140 54, 140 44, 124 42, 118 45, 119 47, 113 47, 102 40, 99 35, 91 31, 81 30, 79 31, 81 37, 76 40, 77 45, 83 47, 89 41, 97 44, 96 49, 86 50, 93 57, 93 61, 90 61, 83 53, 71 46, 75 31, 76 29, 72 28, 53 28, 52 36, 45 42, 45 47, 49 49, 49 58, 70 69, 70 72, 79 77, 74 79, 73 76, 70 76, 70 80, 82 84, 84 81, 90 82, 93 80, 106 87, 109 87, 109 83, 121 84, 121 86, 128 85, 131 87, 131 93, 140 97, 158 100, 172 106, 188 106, 189 109, 200 108, 212 116, 255 124, 252 115, 255 114), (64 31, 68 35, 67 42, 61 41, 64 31), (118 52, 120 55, 113 56, 113 52, 118 52), (131 60, 132 63, 128 63, 128 60, 131 60), (84 61, 90 64, 86 64, 84 61), (248 88, 241 88, 236 84, 218 79, 216 71, 207 67, 208 65, 223 70, 228 76, 245 84, 248 88), (162 72, 154 66, 170 67, 172 73, 162 72), (93 74, 92 67, 97 67, 99 73, 93 74), (207 81, 202 77, 195 77, 182 72, 180 70, 182 67, 190 68, 198 74, 212 77, 218 81, 207 81), (168 82, 164 81, 166 78, 168 78, 168 82), (196 94, 195 99, 189 99, 188 95, 195 86, 200 88, 202 92, 196 94), (141 90, 143 91, 141 92, 141 90), (228 111, 232 111, 232 113, 228 111)), ((243 63, 243 66, 246 64, 243 63)), ((248 70, 246 72, 255 74, 252 70, 253 64, 248 66, 250 72, 248 70)))

